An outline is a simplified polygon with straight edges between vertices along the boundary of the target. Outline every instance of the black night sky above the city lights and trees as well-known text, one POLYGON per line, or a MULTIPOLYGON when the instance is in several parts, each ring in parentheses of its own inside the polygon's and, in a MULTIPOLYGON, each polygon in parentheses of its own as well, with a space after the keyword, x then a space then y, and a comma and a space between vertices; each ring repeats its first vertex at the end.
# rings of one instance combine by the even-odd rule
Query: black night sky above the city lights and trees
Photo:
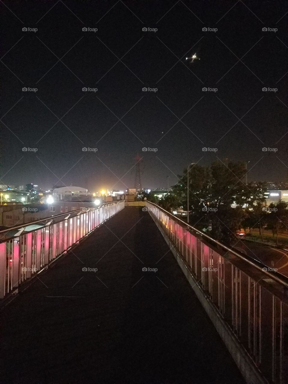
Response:
POLYGON ((248 181, 287 179, 286 1, 3 0, 0 9, 1 183, 126 189, 137 153, 147 188, 217 157, 250 161, 248 181))

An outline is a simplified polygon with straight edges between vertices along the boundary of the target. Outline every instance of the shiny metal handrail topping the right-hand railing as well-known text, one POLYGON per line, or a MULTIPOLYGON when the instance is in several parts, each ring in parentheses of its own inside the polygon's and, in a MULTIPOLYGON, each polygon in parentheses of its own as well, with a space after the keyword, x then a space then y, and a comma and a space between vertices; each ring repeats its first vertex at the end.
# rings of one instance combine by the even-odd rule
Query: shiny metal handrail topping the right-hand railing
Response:
MULTIPOLYGON (((159 205, 155 204, 155 203, 152 203, 150 201, 147 200, 147 202, 149 204, 152 204, 154 205, 155 207, 159 208, 159 210, 161 210, 162 212, 165 212, 167 215, 169 216, 172 216, 173 217, 173 220, 178 220, 180 223, 182 223, 184 226, 186 227, 189 227, 190 229, 192 229, 194 232, 197 232, 199 233, 201 236, 204 236, 206 237, 207 239, 209 239, 210 241, 214 242, 215 244, 219 245, 220 247, 224 248, 225 250, 233 253, 233 255, 237 256, 238 258, 240 258, 241 260, 244 260, 245 262, 249 263, 250 265, 254 266, 255 268, 257 268, 258 270, 260 270, 262 273, 264 273, 265 275, 269 276, 271 279, 273 279, 274 281, 277 281, 277 283, 280 283, 280 284, 283 284, 285 285, 286 288, 288 288, 288 277, 282 275, 281 273, 277 272, 277 271, 265 271, 265 269, 263 268, 270 268, 268 267, 268 265, 266 264, 263 264, 262 262, 259 262, 258 260, 254 259, 253 257, 250 257, 248 255, 245 255, 244 253, 241 254, 241 253, 238 253, 236 251, 234 251, 232 248, 233 247, 227 247, 227 245, 224 245, 222 243, 220 243, 218 240, 215 240, 214 238, 210 237, 209 235, 207 235, 206 233, 204 232, 201 232, 199 229, 197 228, 194 228, 192 227, 192 225, 188 224, 188 223, 185 223, 184 221, 180 220, 178 217, 174 216, 173 214, 171 214, 170 212, 166 211, 165 209, 159 207, 159 205)), ((271 269, 271 268, 270 268, 271 269)))

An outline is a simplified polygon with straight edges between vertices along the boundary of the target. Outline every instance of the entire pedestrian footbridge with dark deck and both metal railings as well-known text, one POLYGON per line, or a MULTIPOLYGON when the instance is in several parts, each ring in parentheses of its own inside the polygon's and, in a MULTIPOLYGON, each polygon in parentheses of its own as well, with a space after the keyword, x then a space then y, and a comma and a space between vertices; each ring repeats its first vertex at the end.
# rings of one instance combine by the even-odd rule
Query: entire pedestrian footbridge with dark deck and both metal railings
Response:
POLYGON ((286 384, 288 279, 141 204, 0 231, 0 382, 286 384))

